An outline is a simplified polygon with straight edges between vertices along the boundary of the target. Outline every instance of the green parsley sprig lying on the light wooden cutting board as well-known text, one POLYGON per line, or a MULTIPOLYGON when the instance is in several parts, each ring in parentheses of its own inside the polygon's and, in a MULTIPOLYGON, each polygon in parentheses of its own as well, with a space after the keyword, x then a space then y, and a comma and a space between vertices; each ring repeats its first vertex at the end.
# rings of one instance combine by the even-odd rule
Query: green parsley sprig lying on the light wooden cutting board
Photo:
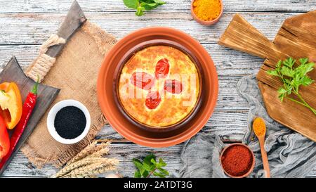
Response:
POLYGON ((293 58, 287 58, 283 61, 279 60, 275 70, 268 70, 267 73, 269 75, 277 76, 282 80, 283 86, 277 91, 281 101, 283 101, 284 98, 288 98, 291 101, 309 108, 312 113, 316 115, 316 110, 308 105, 301 94, 298 93, 298 89, 301 85, 308 86, 314 82, 314 80, 310 79, 307 74, 314 69, 315 63, 308 62, 308 58, 300 58, 298 61, 301 65, 294 68, 296 60, 293 58), (299 101, 289 97, 292 93, 298 97, 299 101))

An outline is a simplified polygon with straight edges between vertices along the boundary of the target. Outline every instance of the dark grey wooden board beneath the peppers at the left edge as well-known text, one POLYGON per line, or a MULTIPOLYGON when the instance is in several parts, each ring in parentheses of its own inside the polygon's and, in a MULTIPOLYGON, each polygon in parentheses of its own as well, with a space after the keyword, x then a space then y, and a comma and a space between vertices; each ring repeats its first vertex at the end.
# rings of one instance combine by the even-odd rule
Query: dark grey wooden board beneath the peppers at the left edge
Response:
MULTIPOLYGON (((11 60, 8 62, 4 70, 1 71, 0 82, 1 83, 2 82, 15 82, 16 84, 18 84, 23 103, 25 101, 25 98, 27 97, 27 94, 29 93, 29 91, 32 90, 32 87, 35 84, 35 82, 32 79, 29 79, 28 77, 25 76, 24 72, 20 68, 20 65, 18 64, 18 60, 16 60, 15 57, 11 58, 11 60)), ((49 87, 44 84, 39 84, 38 94, 37 94, 38 96, 37 104, 35 105, 32 116, 29 118, 27 127, 25 127, 25 130, 22 133, 22 136, 20 137, 20 140, 18 141, 18 145, 13 151, 11 157, 6 162, 4 167, 0 169, 0 174, 4 172, 4 169, 6 169, 6 166, 8 166, 12 158, 19 151, 19 149, 21 148, 22 144, 26 141, 29 134, 32 133, 33 129, 36 127, 39 120, 41 120, 41 117, 44 115, 49 105, 51 105, 51 103, 55 100, 59 91, 60 89, 49 87)), ((12 132, 14 132, 14 130, 15 129, 8 130, 9 134, 11 135, 12 132)))

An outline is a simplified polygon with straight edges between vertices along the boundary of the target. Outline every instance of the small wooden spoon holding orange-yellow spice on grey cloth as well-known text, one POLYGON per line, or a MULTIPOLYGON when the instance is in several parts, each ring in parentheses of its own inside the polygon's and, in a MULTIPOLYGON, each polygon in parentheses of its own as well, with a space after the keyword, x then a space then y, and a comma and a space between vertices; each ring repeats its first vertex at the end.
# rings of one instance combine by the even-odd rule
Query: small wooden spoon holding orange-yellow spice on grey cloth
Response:
POLYGON ((254 129, 254 133, 256 134, 258 141, 260 143, 261 158, 263 162, 263 169, 265 169, 265 177, 270 178, 268 155, 264 148, 266 132, 265 121, 261 117, 256 117, 252 124, 252 129, 254 129), (263 129, 259 129, 259 127, 263 127, 263 129))

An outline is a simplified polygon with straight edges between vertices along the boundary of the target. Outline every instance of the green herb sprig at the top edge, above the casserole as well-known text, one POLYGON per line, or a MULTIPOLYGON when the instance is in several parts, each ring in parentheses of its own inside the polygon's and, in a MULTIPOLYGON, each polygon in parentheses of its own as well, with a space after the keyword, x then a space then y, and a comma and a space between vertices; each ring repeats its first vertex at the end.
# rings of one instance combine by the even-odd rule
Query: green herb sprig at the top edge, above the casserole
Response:
POLYGON ((158 6, 166 4, 162 0, 123 0, 125 6, 136 9, 135 15, 144 15, 144 11, 149 11, 158 6))

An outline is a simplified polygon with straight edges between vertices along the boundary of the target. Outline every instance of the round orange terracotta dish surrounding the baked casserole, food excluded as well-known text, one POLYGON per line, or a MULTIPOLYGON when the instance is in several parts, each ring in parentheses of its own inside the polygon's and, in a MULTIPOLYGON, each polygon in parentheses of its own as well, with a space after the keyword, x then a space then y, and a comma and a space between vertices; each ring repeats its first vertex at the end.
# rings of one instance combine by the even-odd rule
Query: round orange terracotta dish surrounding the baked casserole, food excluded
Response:
POLYGON ((150 147, 167 147, 181 143, 197 134, 209 120, 216 105, 218 96, 218 77, 213 60, 198 41, 179 30, 169 27, 147 27, 132 32, 117 42, 107 53, 100 68, 97 83, 98 102, 100 108, 111 126, 122 136, 134 143, 150 147), (192 118, 187 118, 184 124, 168 132, 151 132, 141 129, 133 123, 117 105, 116 81, 117 70, 122 60, 135 47, 147 41, 172 41, 185 48, 199 63, 202 71, 202 94, 199 108, 192 118))

